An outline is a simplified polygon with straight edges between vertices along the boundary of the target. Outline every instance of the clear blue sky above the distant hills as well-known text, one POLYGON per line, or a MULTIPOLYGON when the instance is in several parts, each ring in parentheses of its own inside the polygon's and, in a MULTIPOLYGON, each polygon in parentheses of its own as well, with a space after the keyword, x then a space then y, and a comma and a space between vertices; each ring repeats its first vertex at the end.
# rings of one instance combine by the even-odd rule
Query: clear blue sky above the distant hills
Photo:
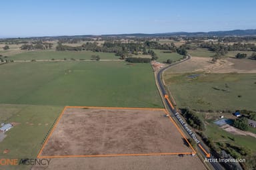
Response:
POLYGON ((0 37, 256 29, 256 1, 8 0, 0 37))

